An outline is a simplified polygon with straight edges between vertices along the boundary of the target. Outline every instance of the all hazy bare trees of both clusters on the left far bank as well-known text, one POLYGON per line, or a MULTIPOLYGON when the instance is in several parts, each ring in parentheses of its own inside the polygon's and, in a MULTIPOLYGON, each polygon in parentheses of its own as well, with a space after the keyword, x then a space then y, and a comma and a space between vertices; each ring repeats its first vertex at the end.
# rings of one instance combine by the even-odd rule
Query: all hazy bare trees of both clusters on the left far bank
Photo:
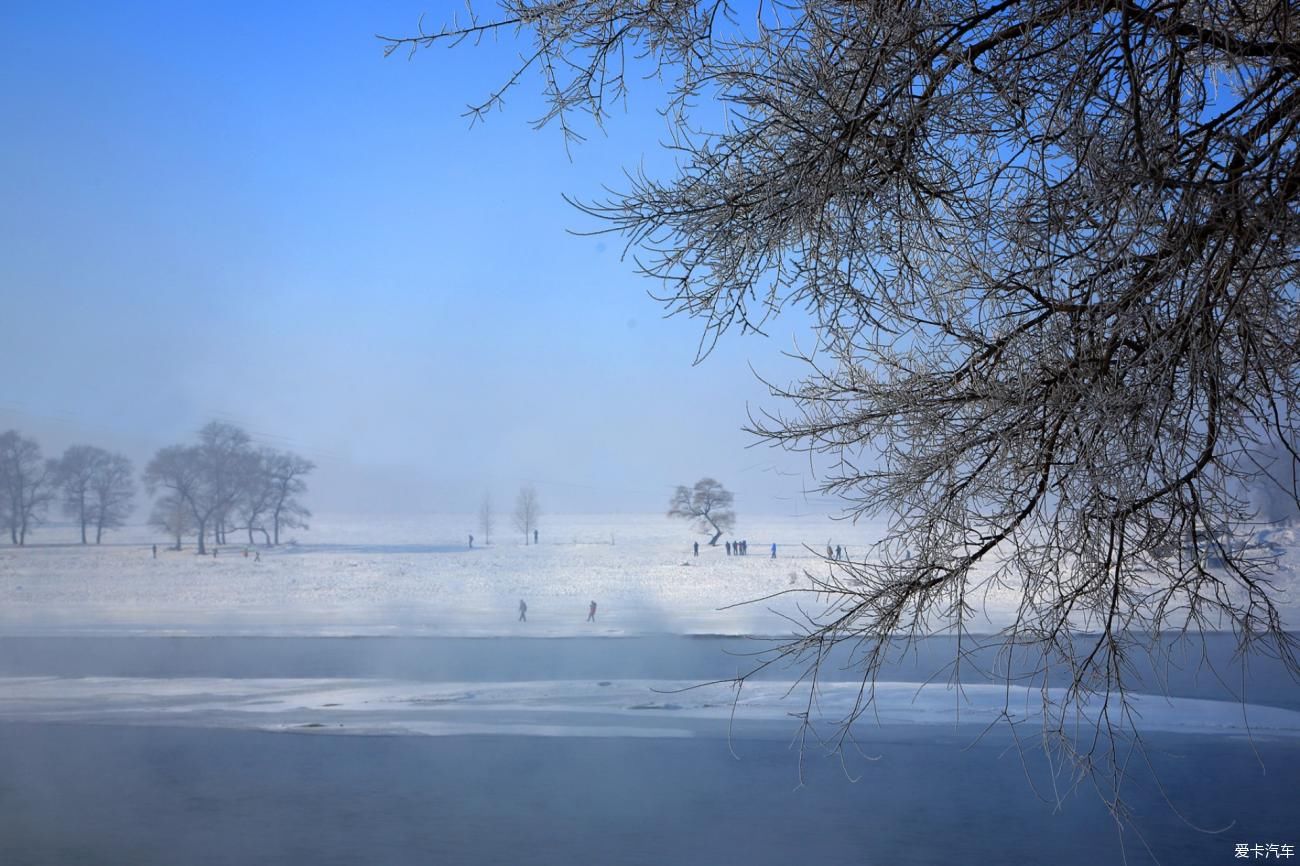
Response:
MULTIPOLYGON (((311 511, 300 497, 316 466, 296 454, 255 449, 248 434, 213 421, 199 430, 196 445, 157 451, 144 468, 153 503, 150 524, 174 538, 226 544, 246 532, 248 544, 278 545, 282 529, 306 528, 311 511)), ((82 544, 101 544, 104 532, 126 523, 134 510, 135 471, 121 454, 92 445, 74 445, 61 458, 46 459, 40 445, 17 430, 0 433, 0 529, 10 544, 27 536, 60 505, 75 520, 82 544)))

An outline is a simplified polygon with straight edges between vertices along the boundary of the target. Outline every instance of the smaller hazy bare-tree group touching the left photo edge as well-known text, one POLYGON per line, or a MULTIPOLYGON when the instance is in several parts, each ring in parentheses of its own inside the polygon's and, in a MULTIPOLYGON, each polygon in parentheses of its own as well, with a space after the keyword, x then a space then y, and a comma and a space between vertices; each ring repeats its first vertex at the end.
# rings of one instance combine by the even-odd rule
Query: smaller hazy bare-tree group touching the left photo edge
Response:
POLYGON ((10 544, 25 545, 46 523, 51 503, 81 528, 82 544, 104 541, 130 516, 135 499, 131 462, 94 445, 74 445, 61 458, 44 459, 40 445, 17 430, 0 433, 0 527, 10 544))

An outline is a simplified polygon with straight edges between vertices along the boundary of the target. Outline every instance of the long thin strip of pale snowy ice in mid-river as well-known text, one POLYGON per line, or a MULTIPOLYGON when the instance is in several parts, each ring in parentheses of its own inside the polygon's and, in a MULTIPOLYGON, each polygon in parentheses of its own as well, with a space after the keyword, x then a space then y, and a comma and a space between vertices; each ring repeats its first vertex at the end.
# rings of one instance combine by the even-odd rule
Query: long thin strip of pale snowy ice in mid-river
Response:
MULTIPOLYGON (((420 683, 338 679, 0 679, 0 719, 140 724, 335 735, 523 735, 681 737, 750 722, 788 726, 793 683, 699 685, 685 680, 550 680, 420 683), (723 727, 725 723, 725 727, 723 727)), ((1053 689, 1049 697, 1060 701, 1053 689)), ((819 687, 815 719, 852 711, 854 683, 819 687)), ((1036 689, 879 683, 858 724, 988 727, 1004 719, 1041 723, 1036 689)), ((1300 713, 1195 698, 1130 696, 1141 733, 1300 737, 1300 713)), ((797 701, 796 701, 797 702, 797 701)), ((1087 715, 1087 713, 1084 714, 1087 715)), ((1036 727, 1035 727, 1036 729, 1036 727)), ((783 728, 789 733, 788 727, 783 728)))

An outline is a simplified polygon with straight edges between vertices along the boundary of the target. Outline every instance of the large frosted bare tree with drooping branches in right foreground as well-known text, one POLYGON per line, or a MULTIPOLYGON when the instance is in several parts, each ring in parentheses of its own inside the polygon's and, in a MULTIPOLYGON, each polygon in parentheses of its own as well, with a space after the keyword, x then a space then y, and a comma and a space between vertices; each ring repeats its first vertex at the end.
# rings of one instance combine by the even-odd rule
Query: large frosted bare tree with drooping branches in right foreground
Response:
POLYGON ((888 531, 789 655, 852 642, 870 684, 1013 593, 1001 638, 1067 672, 1045 733, 1117 811, 1135 654, 1225 629, 1300 672, 1251 506, 1300 505, 1292 3, 500 0, 389 49, 495 31, 532 47, 474 116, 540 81, 576 140, 666 87, 673 160, 584 207, 702 354, 811 322, 751 426, 888 531))

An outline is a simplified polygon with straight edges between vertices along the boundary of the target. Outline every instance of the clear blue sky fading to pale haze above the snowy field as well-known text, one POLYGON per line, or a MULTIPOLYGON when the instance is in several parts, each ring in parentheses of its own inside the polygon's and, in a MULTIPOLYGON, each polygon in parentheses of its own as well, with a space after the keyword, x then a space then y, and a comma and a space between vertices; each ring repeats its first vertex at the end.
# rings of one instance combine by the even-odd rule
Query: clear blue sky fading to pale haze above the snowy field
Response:
POLYGON ((566 231, 562 192, 664 165, 653 90, 572 159, 536 79, 472 129, 521 46, 374 38, 459 8, 5 3, 0 428, 143 460, 230 420, 320 463, 318 510, 658 510, 702 475, 824 510, 740 430, 797 325, 692 367, 699 324, 566 231))

